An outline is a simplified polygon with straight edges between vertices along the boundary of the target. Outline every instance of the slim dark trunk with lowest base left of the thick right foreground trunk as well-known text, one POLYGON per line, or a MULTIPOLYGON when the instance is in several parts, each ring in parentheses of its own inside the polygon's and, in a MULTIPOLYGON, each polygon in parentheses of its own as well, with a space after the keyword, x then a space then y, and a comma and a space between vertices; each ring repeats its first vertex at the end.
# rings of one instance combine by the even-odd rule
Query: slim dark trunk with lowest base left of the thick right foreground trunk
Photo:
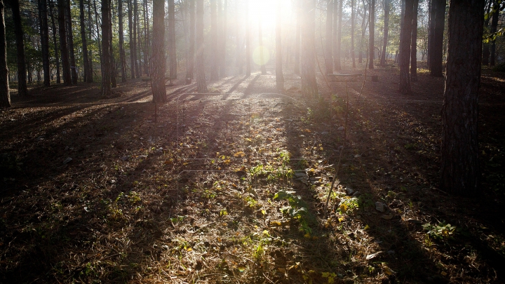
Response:
POLYGON ((412 14, 415 0, 405 0, 400 38, 400 93, 410 94, 410 43, 412 39, 412 14))

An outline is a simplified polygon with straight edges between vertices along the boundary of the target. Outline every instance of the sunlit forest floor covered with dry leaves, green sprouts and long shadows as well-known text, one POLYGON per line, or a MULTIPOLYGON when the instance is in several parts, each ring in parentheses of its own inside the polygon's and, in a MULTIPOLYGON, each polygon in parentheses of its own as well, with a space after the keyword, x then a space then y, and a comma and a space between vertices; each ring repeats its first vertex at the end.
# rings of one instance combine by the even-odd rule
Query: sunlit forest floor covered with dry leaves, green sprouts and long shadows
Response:
POLYGON ((321 100, 294 74, 176 82, 156 116, 140 79, 13 95, 0 283, 505 283, 505 74, 483 70, 478 198, 438 189, 443 79, 370 74, 321 100))

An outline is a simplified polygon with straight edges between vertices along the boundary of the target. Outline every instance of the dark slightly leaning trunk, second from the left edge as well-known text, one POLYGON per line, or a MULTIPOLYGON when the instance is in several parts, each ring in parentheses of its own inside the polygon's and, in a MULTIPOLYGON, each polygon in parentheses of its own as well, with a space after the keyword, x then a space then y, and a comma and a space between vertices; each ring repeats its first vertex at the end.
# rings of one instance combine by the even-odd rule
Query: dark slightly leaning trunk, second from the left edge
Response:
MULTIPOLYGON (((27 68, 25 58, 25 41, 23 39, 23 30, 21 24, 21 13, 19 0, 11 1, 11 9, 13 13, 14 34, 16 50, 18 51, 18 95, 25 97, 28 95, 27 89, 27 68)), ((0 39, 1 40, 1 39, 0 39)))

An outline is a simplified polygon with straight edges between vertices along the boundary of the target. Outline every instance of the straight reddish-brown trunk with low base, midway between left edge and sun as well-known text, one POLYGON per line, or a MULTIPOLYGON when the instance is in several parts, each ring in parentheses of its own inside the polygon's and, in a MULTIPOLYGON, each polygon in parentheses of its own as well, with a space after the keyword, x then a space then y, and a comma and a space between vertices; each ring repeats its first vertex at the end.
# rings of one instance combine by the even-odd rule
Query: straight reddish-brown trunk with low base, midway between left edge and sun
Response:
MULTIPOLYGON (((200 0, 203 1, 203 0, 200 0)), ((203 36, 203 34, 202 34, 203 36)), ((165 88, 165 2, 153 1, 152 92, 154 102, 166 102, 165 88)))

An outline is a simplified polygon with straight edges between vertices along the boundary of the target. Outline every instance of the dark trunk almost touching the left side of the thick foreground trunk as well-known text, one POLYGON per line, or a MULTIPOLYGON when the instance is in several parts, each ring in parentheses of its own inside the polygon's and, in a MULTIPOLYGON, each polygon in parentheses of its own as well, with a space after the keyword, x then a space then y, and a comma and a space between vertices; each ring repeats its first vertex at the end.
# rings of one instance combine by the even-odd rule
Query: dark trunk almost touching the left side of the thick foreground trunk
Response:
POLYGON ((443 76, 443 30, 445 25, 445 0, 433 0, 436 3, 435 28, 433 29, 433 42, 431 43, 430 70, 431 76, 443 76))

